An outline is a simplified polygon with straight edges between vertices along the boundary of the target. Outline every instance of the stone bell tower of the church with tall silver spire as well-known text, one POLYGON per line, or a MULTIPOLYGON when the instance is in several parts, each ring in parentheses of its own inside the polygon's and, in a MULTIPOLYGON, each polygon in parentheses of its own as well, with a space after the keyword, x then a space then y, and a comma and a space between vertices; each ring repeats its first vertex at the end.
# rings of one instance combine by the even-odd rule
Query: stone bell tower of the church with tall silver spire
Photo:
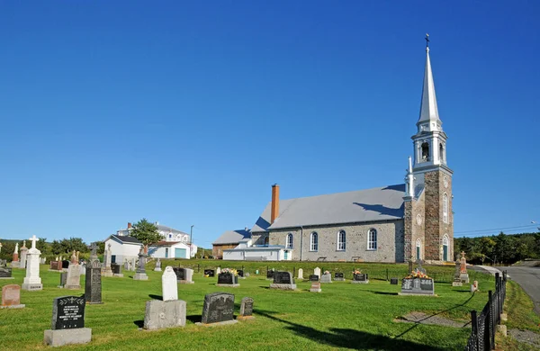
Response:
MULTIPOLYGON (((420 195, 424 201, 424 205, 421 206, 423 211, 414 213, 415 218, 423 217, 421 220, 424 221, 423 243, 416 243, 417 247, 423 246, 422 259, 454 261, 454 216, 452 213, 452 174, 454 172, 447 166, 447 136, 443 130, 443 121, 438 114, 437 96, 429 59, 428 34, 426 41, 426 67, 420 115, 416 123, 417 133, 411 137, 414 161, 408 172, 410 180, 407 183, 411 188, 408 195, 412 202, 415 201, 415 195, 419 196, 418 201, 420 195)), ((408 197, 405 200, 407 201, 408 197)), ((410 243, 410 245, 413 244, 410 243)), ((410 251, 411 257, 414 257, 414 249, 410 251)))

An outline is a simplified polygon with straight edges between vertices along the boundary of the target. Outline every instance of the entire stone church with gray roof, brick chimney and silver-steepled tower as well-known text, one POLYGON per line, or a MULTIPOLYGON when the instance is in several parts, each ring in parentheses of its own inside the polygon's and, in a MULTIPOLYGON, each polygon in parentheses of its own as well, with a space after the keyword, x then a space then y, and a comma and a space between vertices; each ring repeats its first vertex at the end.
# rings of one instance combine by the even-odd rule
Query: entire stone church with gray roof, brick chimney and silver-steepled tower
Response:
POLYGON ((289 200, 280 200, 275 184, 251 237, 223 249, 223 259, 453 261, 453 171, 446 164, 428 47, 416 127, 405 184, 289 200))

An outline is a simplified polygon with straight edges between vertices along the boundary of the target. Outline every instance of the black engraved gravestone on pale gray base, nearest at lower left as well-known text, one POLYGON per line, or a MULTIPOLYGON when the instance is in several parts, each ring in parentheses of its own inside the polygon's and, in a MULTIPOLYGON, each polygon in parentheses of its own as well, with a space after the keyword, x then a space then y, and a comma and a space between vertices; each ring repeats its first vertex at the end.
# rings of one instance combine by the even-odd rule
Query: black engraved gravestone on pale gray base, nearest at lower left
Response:
POLYGON ((45 330, 43 342, 52 347, 86 344, 92 329, 85 328, 85 298, 62 296, 52 303, 52 326, 45 330))

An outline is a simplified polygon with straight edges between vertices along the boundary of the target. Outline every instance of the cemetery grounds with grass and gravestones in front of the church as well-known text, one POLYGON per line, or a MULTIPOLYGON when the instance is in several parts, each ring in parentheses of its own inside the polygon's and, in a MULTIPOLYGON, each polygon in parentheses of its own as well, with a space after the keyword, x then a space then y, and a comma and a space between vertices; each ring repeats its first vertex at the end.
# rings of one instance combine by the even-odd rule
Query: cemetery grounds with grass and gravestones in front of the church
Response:
POLYGON ((233 268, 234 263, 224 261, 201 260, 190 262, 189 267, 182 263, 162 259, 162 271, 155 271, 156 263, 149 262, 136 271, 124 270, 120 278, 103 275, 103 264, 91 257, 85 275, 79 275, 78 288, 69 273, 80 271, 69 270, 78 266, 71 264, 64 272, 65 279, 72 279, 64 283, 69 288, 59 289, 62 271, 50 270, 47 262, 40 266, 39 276, 31 276, 32 284, 40 279, 42 290, 38 291, 14 287, 27 278, 24 270, 14 269, 14 279, 0 280, 9 295, 5 305, 18 307, 0 309, 0 320, 10 321, 0 324, 3 343, 17 349, 80 343, 72 346, 77 350, 170 349, 176 345, 231 350, 463 349, 470 327, 419 324, 411 329, 395 319, 410 313, 439 313, 466 325, 470 311, 482 311, 487 287, 494 285, 491 275, 469 271, 471 280, 480 286, 472 294, 466 284, 452 286, 455 266, 424 266, 421 269, 433 277, 431 291, 438 295, 429 298, 400 295, 403 285, 417 286, 403 283, 411 278, 407 265, 280 262, 233 268), (238 271, 245 277, 241 284, 238 271), (360 271, 358 275, 364 276, 356 277, 360 271), (135 279, 141 274, 146 279, 135 279), (226 282, 216 286, 220 275, 226 282), (369 284, 351 284, 366 281, 368 275, 369 284), (391 284, 395 277, 400 284, 391 284), (186 279, 193 284, 181 284, 186 279), (239 286, 228 289, 226 284, 239 286))

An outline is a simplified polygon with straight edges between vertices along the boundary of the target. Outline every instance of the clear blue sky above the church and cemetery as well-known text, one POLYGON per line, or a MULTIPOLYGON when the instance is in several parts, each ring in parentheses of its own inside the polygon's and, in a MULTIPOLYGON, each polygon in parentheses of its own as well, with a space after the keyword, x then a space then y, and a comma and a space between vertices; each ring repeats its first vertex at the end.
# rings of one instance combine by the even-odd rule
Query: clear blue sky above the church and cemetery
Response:
POLYGON ((426 32, 455 236, 540 221, 538 14, 536 1, 1 1, 0 238, 92 241, 146 217, 193 224, 210 247, 255 223, 271 184, 293 198, 402 183, 426 32))

